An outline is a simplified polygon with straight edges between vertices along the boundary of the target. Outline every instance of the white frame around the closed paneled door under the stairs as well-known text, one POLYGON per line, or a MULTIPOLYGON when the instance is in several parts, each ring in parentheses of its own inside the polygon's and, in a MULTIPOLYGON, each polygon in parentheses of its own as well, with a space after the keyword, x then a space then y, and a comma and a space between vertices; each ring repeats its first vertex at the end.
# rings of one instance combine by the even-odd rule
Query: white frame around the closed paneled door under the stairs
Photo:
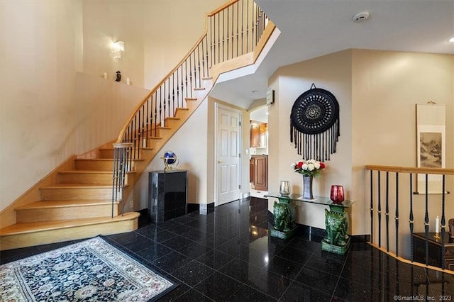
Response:
POLYGON ((214 206, 218 206, 219 202, 219 191, 218 191, 218 129, 219 129, 219 121, 218 121, 218 110, 219 108, 222 108, 227 111, 233 111, 234 113, 238 113, 238 121, 240 122, 239 128, 240 128, 240 135, 238 135, 238 152, 240 154, 239 156, 239 164, 238 164, 238 182, 240 185, 240 189, 238 192, 238 199, 240 199, 243 196, 243 113, 233 107, 229 107, 223 104, 219 104, 218 102, 214 103, 214 206))

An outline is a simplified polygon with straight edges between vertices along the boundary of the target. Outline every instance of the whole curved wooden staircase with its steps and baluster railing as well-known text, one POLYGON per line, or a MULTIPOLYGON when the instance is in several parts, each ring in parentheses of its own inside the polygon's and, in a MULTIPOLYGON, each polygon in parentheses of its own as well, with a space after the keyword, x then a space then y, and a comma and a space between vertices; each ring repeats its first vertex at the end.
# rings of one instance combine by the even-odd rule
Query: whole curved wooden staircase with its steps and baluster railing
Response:
POLYGON ((0 250, 125 233, 138 228, 140 214, 122 211, 130 208, 123 200, 128 200, 135 180, 206 99, 218 75, 253 64, 275 28, 271 22, 265 26, 264 13, 250 0, 233 0, 209 13, 207 19, 206 33, 138 104, 118 140, 71 158, 13 203, 12 214, 7 216, 11 223, 1 224, 7 226, 0 229, 0 250), (220 13, 226 10, 243 15, 247 12, 248 16, 232 17, 230 21, 223 18, 220 24, 220 13), (253 22, 250 28, 255 28, 255 33, 249 37, 241 34, 238 27, 237 40, 231 38, 230 46, 232 43, 238 46, 236 55, 226 50, 226 56, 222 55, 221 59, 223 43, 220 36, 216 37, 216 26, 233 28, 238 19, 253 22), (207 34, 208 30, 212 33, 207 34), (245 51, 238 52, 243 45, 245 51), (128 159, 131 164, 124 171, 125 182, 121 188, 125 198, 115 198, 113 143, 125 142, 133 145, 128 159), (10 217, 14 214, 15 220, 10 217))

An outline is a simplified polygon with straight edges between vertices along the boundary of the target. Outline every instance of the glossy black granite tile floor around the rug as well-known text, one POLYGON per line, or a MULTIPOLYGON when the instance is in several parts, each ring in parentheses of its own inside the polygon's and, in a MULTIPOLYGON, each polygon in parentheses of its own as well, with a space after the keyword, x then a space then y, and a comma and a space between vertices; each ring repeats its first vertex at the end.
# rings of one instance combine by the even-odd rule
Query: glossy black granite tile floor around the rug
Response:
MULTIPOLYGON (((142 217, 138 230, 106 238, 179 284, 159 301, 454 301, 452 274, 399 262, 366 242, 335 255, 321 250, 321 237, 279 240, 270 226, 267 201, 252 197, 165 223, 142 217)), ((4 251, 0 262, 73 242, 4 251)))

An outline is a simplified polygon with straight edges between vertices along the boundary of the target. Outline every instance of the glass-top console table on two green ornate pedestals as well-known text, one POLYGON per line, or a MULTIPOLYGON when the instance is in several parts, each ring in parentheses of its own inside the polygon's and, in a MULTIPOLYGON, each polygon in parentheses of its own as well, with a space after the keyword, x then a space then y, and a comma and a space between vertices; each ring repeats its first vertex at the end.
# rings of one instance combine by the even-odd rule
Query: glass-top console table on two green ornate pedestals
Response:
POLYGON ((321 249, 344 255, 350 247, 350 236, 347 234, 348 216, 345 209, 350 208, 354 201, 345 200, 342 203, 333 203, 330 198, 322 196, 316 196, 314 199, 303 199, 299 194, 281 195, 279 193, 270 193, 265 197, 279 200, 279 202, 275 201, 273 205, 275 225, 270 229, 271 236, 287 239, 296 233, 294 201, 315 203, 330 208, 329 211, 325 209, 326 236, 321 242, 321 249))

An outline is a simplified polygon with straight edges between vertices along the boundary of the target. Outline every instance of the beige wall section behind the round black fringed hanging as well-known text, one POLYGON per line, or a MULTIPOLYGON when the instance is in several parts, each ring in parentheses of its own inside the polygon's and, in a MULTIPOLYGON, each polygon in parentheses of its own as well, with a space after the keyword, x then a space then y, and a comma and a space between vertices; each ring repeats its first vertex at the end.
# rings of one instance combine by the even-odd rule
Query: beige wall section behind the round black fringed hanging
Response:
MULTIPOLYGON (((351 50, 300 62, 277 69, 270 79, 275 89, 275 103, 268 109, 269 179, 270 191, 279 191, 279 181, 288 180, 292 193, 302 194, 302 177, 290 167, 301 160, 290 142, 290 112, 294 101, 311 88, 326 89, 336 96, 340 106, 341 137, 338 152, 326 162, 322 177, 314 181, 314 195, 326 196, 331 184, 343 184, 345 197, 351 198, 351 50)), ((297 223, 325 228, 323 206, 310 203, 297 204, 297 223)), ((272 212, 272 203, 269 203, 272 212)))

